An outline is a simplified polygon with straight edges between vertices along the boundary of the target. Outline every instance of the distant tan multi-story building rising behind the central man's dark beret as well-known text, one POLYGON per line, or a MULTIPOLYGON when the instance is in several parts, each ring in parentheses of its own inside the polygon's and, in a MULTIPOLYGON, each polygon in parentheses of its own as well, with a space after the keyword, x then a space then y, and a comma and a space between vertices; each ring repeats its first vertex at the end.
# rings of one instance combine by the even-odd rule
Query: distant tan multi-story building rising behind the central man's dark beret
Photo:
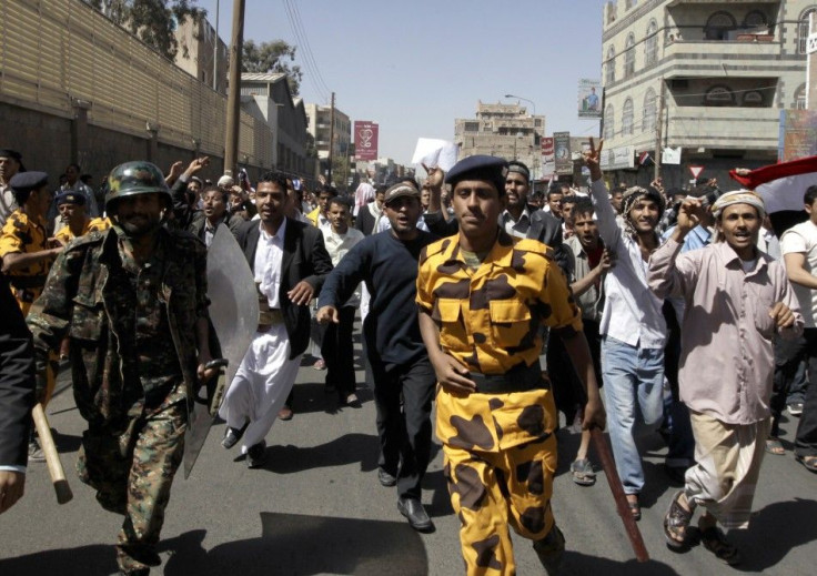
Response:
POLYGON ((539 138, 545 117, 532 115, 520 104, 476 104, 476 118, 454 120, 454 143, 460 158, 491 154, 527 164, 532 175, 541 173, 539 138))

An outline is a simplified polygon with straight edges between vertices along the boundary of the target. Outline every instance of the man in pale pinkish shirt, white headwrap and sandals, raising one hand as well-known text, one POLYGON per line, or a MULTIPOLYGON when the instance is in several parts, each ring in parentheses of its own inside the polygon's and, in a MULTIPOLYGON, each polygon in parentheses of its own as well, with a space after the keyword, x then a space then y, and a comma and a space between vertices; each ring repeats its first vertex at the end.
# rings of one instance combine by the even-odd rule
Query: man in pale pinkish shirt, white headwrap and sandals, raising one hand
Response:
POLYGON ((803 317, 783 264, 755 246, 763 199, 749 190, 722 195, 712 206, 717 241, 679 254, 705 210, 700 199, 685 200, 672 236, 649 259, 650 290, 686 304, 678 388, 697 463, 673 498, 664 535, 672 548, 684 547, 695 508, 704 506, 704 546, 735 565, 740 555, 717 524, 748 526, 771 426, 773 341, 776 334, 796 337, 803 317))

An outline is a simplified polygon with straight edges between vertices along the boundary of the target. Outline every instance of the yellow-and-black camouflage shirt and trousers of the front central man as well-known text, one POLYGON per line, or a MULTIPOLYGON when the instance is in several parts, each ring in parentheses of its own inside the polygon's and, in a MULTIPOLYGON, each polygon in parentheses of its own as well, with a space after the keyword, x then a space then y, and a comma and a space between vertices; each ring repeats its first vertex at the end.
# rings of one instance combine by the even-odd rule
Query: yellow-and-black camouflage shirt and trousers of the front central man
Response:
MULTIPOLYGON (((476 374, 538 370, 542 324, 565 335, 581 332, 581 313, 548 251, 538 241, 500 231, 491 252, 472 267, 458 234, 430 244, 420 257, 416 302, 440 327, 443 352, 476 374)), ((554 524, 553 394, 544 384, 490 394, 438 386, 436 402, 467 574, 514 574, 508 524, 533 540, 554 524)))

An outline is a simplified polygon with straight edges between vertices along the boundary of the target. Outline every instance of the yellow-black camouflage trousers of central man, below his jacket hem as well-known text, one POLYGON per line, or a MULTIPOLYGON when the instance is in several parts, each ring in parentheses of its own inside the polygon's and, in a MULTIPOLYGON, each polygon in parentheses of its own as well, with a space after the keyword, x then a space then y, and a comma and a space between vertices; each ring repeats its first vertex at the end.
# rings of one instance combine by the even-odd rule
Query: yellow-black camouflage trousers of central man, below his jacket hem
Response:
POLYGON ((500 452, 443 445, 451 505, 460 517, 460 545, 466 573, 516 573, 508 525, 532 540, 554 524, 551 509, 556 437, 500 452))

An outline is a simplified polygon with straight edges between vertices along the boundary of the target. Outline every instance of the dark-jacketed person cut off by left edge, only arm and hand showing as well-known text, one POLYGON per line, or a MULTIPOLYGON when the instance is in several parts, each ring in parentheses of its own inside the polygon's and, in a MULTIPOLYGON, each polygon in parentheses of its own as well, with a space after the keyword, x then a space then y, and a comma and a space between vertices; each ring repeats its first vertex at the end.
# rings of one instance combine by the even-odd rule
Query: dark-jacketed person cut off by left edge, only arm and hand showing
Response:
POLYGON ((0 272, 0 514, 22 497, 26 486, 34 351, 31 333, 9 281, 0 272))

